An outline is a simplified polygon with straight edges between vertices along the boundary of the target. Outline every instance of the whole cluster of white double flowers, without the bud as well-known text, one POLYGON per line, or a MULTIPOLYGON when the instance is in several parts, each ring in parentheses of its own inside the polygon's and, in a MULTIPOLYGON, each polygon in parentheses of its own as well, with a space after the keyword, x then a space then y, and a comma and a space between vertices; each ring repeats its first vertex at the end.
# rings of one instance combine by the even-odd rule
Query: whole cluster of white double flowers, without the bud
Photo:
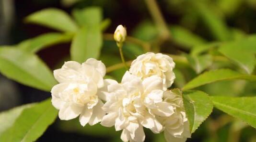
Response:
POLYGON ((122 130, 124 142, 143 142, 143 127, 164 131, 168 142, 185 142, 190 131, 182 96, 167 90, 175 79, 174 67, 170 56, 147 53, 132 62, 118 83, 103 79, 101 61, 65 62, 54 71, 59 84, 52 88, 52 104, 61 120, 80 115, 82 126, 100 121, 105 127, 115 126, 122 130))

